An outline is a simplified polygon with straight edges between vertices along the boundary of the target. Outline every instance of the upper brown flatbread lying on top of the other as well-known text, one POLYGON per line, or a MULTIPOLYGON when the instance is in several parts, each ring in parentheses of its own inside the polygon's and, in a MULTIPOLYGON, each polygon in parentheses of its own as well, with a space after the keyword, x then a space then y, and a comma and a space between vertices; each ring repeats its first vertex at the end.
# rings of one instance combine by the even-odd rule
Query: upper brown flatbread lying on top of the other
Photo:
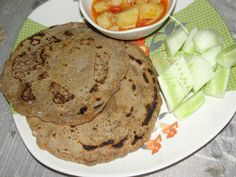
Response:
POLYGON ((14 110, 44 121, 92 120, 128 70, 125 44, 85 24, 41 31, 19 44, 3 71, 3 93, 14 110))

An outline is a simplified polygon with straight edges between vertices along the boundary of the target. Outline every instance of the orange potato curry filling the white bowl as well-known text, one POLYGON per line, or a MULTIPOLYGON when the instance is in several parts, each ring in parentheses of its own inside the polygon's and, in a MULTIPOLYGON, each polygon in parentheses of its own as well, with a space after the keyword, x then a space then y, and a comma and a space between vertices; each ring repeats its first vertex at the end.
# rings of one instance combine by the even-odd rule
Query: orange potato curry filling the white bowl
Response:
POLYGON ((99 26, 122 31, 159 21, 167 8, 168 0, 94 0, 91 13, 99 26))

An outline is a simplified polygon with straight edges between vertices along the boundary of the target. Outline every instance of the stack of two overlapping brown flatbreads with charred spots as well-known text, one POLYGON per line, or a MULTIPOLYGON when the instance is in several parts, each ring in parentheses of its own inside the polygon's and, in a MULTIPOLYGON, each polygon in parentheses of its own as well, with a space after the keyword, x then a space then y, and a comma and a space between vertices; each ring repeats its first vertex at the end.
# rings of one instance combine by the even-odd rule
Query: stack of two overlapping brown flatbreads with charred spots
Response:
POLYGON ((22 41, 5 63, 2 87, 41 149, 86 165, 140 148, 161 106, 156 71, 143 51, 81 23, 22 41))

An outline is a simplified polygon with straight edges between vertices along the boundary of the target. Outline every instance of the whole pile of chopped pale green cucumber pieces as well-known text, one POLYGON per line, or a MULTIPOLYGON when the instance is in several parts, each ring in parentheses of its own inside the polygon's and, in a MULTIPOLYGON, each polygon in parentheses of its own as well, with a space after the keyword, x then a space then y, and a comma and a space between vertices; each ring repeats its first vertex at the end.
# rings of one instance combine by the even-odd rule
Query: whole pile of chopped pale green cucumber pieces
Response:
POLYGON ((205 96, 223 98, 236 45, 223 49, 222 36, 213 29, 182 26, 167 36, 169 59, 156 59, 158 81, 168 109, 178 119, 189 117, 205 103, 205 96))

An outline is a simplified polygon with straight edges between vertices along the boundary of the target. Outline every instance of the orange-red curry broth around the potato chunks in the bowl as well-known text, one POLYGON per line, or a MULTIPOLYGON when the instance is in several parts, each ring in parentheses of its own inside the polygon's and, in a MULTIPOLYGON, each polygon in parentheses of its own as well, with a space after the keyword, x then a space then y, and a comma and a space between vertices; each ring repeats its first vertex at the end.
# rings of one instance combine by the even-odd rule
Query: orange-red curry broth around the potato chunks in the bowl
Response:
MULTIPOLYGON (((94 9, 94 4, 95 3, 97 3, 97 2, 99 2, 99 1, 102 1, 102 0, 93 0, 93 3, 92 3, 92 8, 91 8, 91 12, 92 12, 92 17, 93 17, 93 19, 94 19, 94 21, 96 21, 96 19, 97 19, 97 17, 100 15, 100 14, 102 14, 103 12, 101 12, 101 13, 97 13, 96 11, 95 11, 95 9, 94 9)), ((160 21, 164 16, 165 16, 165 14, 166 14, 166 12, 167 12, 167 9, 168 9, 168 0, 161 0, 161 3, 162 3, 162 5, 163 5, 163 7, 164 7, 164 12, 162 13, 162 15, 160 16, 160 18, 158 18, 157 20, 155 20, 155 21, 153 21, 152 23, 149 23, 149 24, 145 24, 145 22, 146 21, 149 21, 150 19, 145 19, 145 21, 140 21, 140 20, 138 20, 138 22, 137 22, 137 24, 136 24, 136 27, 134 27, 134 28, 139 28, 139 27, 143 27, 143 26, 149 26, 149 25, 152 25, 152 24, 154 24, 154 23, 156 23, 157 21, 160 21)), ((132 5, 135 5, 135 4, 131 4, 131 6, 132 5)), ((129 7, 131 7, 131 6, 129 6, 129 7)), ((110 9, 109 10, 107 10, 107 11, 109 11, 109 12, 112 12, 112 13, 119 13, 119 12, 122 12, 123 10, 125 10, 125 9, 127 9, 127 8, 129 8, 129 7, 125 7, 124 5, 122 6, 112 6, 112 7, 110 7, 110 9)), ((125 28, 125 29, 122 29, 122 28, 120 28, 119 29, 119 31, 124 31, 124 30, 129 30, 129 29, 133 29, 133 28, 125 28)))

